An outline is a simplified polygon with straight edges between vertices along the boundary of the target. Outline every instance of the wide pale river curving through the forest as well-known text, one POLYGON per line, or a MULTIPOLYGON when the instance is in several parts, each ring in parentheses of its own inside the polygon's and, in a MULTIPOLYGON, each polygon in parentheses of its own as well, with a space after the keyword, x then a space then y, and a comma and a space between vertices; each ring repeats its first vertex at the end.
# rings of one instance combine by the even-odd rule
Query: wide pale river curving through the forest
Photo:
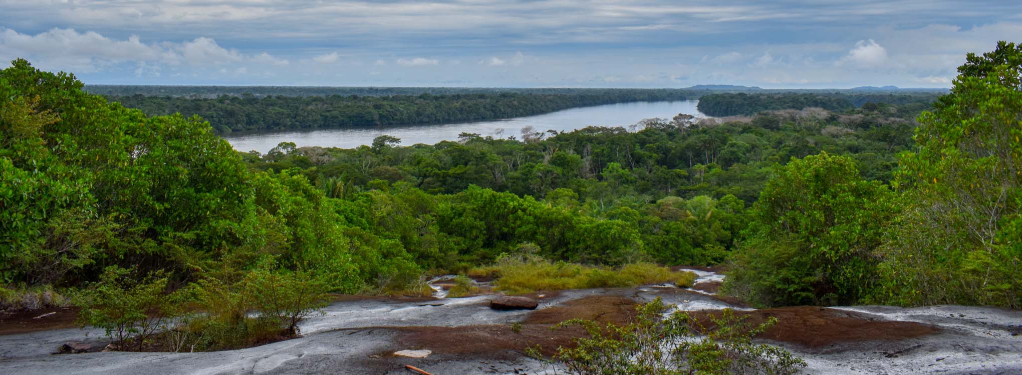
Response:
POLYGON ((388 127, 238 132, 225 136, 224 139, 238 151, 256 150, 264 154, 281 142, 293 142, 298 147, 322 146, 351 149, 362 145, 371 145, 374 138, 383 135, 401 139, 401 144, 405 146, 432 145, 440 141, 456 141, 458 135, 462 132, 475 132, 483 137, 507 138, 515 136, 521 138, 521 129, 525 126, 532 126, 541 131, 548 129, 570 131, 590 125, 628 126, 644 118, 671 118, 679 113, 704 117, 696 109, 697 103, 699 103, 697 100, 619 103, 572 108, 536 116, 502 120, 388 127))

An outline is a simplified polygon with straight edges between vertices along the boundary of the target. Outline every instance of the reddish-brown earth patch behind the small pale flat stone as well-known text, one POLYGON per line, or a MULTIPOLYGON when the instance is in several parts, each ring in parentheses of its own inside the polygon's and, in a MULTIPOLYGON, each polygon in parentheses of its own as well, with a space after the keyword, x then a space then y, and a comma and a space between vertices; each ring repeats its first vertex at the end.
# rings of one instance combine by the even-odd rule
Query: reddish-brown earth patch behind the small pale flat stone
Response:
POLYGON ((439 355, 479 356, 496 359, 516 359, 526 347, 540 345, 541 352, 552 356, 558 347, 570 346, 584 337, 580 327, 551 329, 550 324, 523 324, 518 332, 510 325, 473 325, 464 327, 398 327, 407 334, 398 339, 403 349, 426 349, 439 355))

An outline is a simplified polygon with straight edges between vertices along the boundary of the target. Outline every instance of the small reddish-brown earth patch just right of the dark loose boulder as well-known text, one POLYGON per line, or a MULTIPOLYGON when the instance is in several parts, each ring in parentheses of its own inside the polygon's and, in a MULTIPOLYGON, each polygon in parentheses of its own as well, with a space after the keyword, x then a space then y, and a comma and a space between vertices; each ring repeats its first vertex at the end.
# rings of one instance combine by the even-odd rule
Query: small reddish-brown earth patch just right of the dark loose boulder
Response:
POLYGON ((623 297, 585 297, 560 306, 533 311, 522 323, 557 324, 571 319, 586 319, 600 323, 628 324, 636 317, 636 305, 634 300, 623 297))

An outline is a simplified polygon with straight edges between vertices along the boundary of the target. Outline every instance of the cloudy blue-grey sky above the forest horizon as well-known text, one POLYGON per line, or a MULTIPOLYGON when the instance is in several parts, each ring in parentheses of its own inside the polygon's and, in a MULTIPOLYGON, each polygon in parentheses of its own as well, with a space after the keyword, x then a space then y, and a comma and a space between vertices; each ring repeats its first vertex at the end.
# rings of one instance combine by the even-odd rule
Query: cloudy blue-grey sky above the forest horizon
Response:
POLYGON ((0 0, 0 66, 86 84, 946 88, 1009 1, 0 0))

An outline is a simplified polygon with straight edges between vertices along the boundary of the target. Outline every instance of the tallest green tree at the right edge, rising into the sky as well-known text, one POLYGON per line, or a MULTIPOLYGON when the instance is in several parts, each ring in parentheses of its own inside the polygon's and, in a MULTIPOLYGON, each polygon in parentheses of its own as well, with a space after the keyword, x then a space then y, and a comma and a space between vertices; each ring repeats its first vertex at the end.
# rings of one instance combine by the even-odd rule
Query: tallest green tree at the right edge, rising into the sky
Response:
POLYGON ((901 156, 909 208, 884 243, 877 302, 1022 307, 1022 48, 1001 42, 959 71, 901 156))

